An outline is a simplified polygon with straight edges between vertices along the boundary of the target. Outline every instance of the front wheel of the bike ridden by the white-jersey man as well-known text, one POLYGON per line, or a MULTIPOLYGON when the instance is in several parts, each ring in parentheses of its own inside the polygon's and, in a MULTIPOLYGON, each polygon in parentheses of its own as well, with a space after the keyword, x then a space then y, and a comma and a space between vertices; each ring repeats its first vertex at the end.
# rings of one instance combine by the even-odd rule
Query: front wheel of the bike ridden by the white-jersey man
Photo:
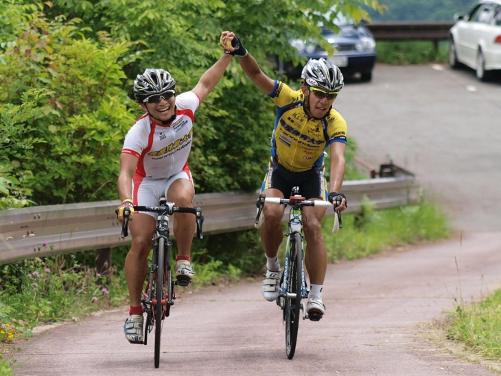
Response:
POLYGON ((155 322, 155 368, 160 366, 160 342, 162 334, 162 324, 165 312, 165 239, 163 237, 159 238, 159 259, 156 269, 156 283, 155 283, 155 298, 156 303, 154 307, 154 322, 155 322))

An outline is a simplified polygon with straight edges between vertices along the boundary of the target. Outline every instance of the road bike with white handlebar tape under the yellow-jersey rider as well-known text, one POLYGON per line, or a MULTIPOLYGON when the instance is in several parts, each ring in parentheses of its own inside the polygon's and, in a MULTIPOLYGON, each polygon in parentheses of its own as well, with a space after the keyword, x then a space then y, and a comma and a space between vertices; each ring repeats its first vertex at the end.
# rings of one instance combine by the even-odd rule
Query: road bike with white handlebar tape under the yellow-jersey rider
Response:
MULTIPOLYGON (((336 198, 336 206, 340 204, 341 197, 336 198)), ((305 260, 303 248, 303 207, 333 207, 329 201, 306 200, 299 193, 299 187, 294 187, 290 198, 266 197, 260 194, 256 202, 257 216, 255 227, 262 224, 261 212, 264 204, 281 204, 290 207, 288 233, 286 243, 286 257, 281 273, 279 296, 277 305, 282 309, 283 321, 286 322, 286 353, 289 359, 294 357, 296 351, 297 333, 299 320, 310 318, 301 299, 307 299, 309 290, 305 278, 305 260), (300 310, 303 311, 301 315, 300 310)), ((334 215, 333 233, 337 233, 342 227, 341 213, 336 211, 334 215)), ((321 316, 312 316, 310 320, 318 321, 321 316)))

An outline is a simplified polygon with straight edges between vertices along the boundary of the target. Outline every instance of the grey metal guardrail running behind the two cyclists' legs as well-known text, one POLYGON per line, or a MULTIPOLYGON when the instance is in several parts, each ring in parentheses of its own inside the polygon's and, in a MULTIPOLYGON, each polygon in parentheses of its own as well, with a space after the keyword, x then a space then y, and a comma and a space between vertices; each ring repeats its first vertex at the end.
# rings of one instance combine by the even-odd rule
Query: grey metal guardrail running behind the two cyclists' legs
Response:
MULTIPOLYGON (((395 171, 402 176, 345 181, 347 212, 360 211, 367 199, 375 209, 417 202, 414 176, 403 169, 395 171)), ((195 196, 194 206, 202 208, 204 233, 225 233, 253 228, 256 199, 256 193, 202 193, 195 196)), ((118 200, 109 200, 0 211, 0 264, 130 244, 130 237, 120 237, 118 205, 118 200)))

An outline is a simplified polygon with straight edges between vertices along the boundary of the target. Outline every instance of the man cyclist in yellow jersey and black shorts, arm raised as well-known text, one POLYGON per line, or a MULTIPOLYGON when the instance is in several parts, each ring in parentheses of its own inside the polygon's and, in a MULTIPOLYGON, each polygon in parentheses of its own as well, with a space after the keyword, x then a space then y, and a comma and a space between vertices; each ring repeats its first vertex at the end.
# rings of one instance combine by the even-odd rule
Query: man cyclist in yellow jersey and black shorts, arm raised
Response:
MULTIPOLYGON (((261 185, 266 197, 288 198, 292 187, 299 186, 307 199, 328 199, 336 211, 347 207, 340 192, 345 177, 347 124, 332 107, 344 84, 340 69, 321 58, 310 59, 301 73, 301 89, 294 91, 278 80, 268 77, 248 54, 233 32, 223 32, 221 43, 227 54, 238 56, 240 66, 256 86, 269 95, 277 106, 277 119, 272 133, 271 158, 261 185), (231 47, 230 47, 231 46, 231 47), (325 180, 324 150, 330 152, 329 188, 325 180), (340 204, 334 198, 341 196, 340 204), (337 206, 336 206, 337 205, 337 206)), ((261 292, 267 301, 279 295, 280 264, 277 258, 283 239, 281 220, 285 207, 264 207, 261 241, 266 253, 266 273, 261 292)), ((325 208, 304 207, 303 224, 306 238, 305 264, 310 277, 307 313, 310 318, 325 314, 322 301, 327 270, 327 248, 321 226, 325 208)))

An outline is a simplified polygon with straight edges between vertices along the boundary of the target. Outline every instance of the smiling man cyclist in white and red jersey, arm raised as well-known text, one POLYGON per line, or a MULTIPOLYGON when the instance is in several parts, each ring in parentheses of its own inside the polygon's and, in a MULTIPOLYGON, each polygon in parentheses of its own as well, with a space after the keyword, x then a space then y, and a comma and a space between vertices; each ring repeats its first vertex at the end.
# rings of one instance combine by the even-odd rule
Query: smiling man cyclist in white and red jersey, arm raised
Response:
MULTIPOLYGON (((188 167, 194 113, 218 84, 232 54, 223 54, 186 93, 176 96, 176 82, 163 69, 146 69, 134 82, 135 99, 144 115, 128 131, 120 155, 117 181, 121 205, 117 218, 123 221, 130 209, 132 246, 125 261, 130 309, 124 331, 131 343, 143 343, 141 294, 148 274, 147 259, 156 224, 154 213, 134 213, 133 205, 158 206, 159 198, 178 207, 192 207, 195 189, 188 167)), ((178 248, 176 278, 191 281, 191 242, 196 231, 193 215, 174 215, 174 237, 178 248)))

